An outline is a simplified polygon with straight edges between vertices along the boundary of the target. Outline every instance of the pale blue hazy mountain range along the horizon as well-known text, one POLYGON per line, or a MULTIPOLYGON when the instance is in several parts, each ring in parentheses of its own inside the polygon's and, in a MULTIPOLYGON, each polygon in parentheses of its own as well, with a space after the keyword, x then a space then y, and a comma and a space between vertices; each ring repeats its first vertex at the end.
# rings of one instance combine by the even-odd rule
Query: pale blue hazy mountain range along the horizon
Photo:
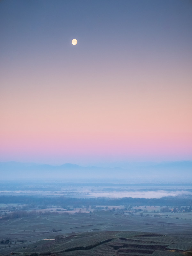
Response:
POLYGON ((138 182, 192 182, 192 161, 131 163, 128 168, 59 166, 37 163, 0 163, 1 180, 100 180, 138 182))

